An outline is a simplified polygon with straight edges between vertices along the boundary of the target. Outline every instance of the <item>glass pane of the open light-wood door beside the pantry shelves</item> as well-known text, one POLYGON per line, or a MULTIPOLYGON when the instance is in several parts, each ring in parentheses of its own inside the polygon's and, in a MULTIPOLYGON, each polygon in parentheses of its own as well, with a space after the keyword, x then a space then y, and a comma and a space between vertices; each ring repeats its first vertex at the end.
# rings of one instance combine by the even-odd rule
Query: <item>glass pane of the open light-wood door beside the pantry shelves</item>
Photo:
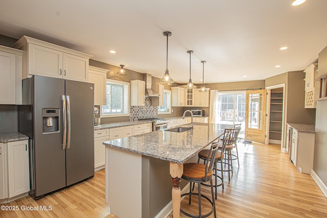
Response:
POLYGON ((262 129, 262 102, 262 93, 249 94, 248 128, 262 129))

